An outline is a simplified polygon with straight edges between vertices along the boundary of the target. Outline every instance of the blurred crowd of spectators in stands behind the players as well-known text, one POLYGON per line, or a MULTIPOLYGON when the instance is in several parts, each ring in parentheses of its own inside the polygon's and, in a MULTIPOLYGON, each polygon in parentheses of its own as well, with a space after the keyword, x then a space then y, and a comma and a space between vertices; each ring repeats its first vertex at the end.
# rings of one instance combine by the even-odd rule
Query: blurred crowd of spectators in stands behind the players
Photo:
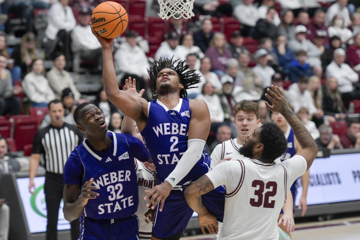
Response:
MULTIPOLYGON (((75 124, 76 105, 90 101, 109 129, 120 132, 123 114, 102 89, 102 51, 89 26, 100 2, 0 1, 0 135, 6 150, 31 154, 35 132, 51 122, 47 106, 54 99, 64 105, 64 122, 75 124)), ((257 101, 261 123, 272 121, 264 95, 272 84, 320 147, 360 147, 360 1, 195 0, 195 17, 168 21, 157 16, 157 1, 117 2, 129 14, 113 51, 119 87, 136 78, 150 100, 149 60, 186 60, 202 79, 188 96, 203 99, 210 110, 209 154, 236 137, 237 102, 257 101)))

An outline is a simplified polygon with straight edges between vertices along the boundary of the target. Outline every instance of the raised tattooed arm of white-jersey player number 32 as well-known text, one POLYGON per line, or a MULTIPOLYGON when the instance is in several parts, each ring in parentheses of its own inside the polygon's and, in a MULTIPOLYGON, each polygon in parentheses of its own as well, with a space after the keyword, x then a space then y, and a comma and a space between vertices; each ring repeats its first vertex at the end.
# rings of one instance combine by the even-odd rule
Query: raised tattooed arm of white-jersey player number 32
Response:
POLYGON ((267 89, 269 94, 266 93, 265 96, 273 103, 273 106, 270 106, 269 103, 265 102, 266 107, 270 109, 271 112, 281 113, 289 123, 290 127, 294 131, 296 139, 302 147, 302 150, 298 151, 296 155, 301 155, 305 158, 307 162, 306 170, 309 170, 312 162, 314 162, 314 159, 318 154, 318 146, 316 145, 315 140, 312 138, 310 132, 306 129, 304 124, 290 109, 288 101, 279 87, 274 87, 274 85, 271 85, 271 89, 272 90, 269 88, 267 89))

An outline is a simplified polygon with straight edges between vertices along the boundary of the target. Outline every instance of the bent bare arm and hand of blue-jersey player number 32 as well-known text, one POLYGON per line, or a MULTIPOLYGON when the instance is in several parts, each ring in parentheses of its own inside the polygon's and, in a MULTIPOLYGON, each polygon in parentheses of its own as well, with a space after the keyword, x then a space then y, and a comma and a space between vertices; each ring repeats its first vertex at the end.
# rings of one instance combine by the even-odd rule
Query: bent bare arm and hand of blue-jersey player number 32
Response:
POLYGON ((79 196, 79 185, 65 184, 64 186, 64 207, 63 213, 67 221, 72 222, 73 220, 80 217, 84 206, 87 204, 89 199, 94 199, 96 196, 99 196, 98 193, 91 191, 93 189, 98 189, 95 186, 91 186, 94 178, 91 178, 89 181, 81 188, 81 194, 79 196))

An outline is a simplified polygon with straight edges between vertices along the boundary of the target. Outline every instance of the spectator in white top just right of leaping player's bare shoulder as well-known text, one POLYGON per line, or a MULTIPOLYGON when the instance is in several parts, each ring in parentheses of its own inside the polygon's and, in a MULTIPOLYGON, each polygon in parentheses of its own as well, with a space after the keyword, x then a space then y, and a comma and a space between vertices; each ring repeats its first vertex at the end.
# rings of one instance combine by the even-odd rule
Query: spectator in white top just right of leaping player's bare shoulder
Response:
POLYGON ((220 99, 215 94, 214 88, 210 82, 203 85, 201 94, 199 94, 196 98, 204 100, 207 104, 212 123, 224 122, 224 111, 222 111, 220 99))

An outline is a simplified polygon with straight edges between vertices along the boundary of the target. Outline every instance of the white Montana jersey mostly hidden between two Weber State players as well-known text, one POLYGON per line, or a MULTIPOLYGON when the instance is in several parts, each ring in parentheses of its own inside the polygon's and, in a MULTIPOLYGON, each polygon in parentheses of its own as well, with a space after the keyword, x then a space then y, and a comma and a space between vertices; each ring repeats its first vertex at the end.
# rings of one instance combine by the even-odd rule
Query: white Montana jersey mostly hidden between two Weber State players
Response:
POLYGON ((151 231, 153 223, 145 217, 145 214, 150 210, 146 207, 144 197, 147 195, 145 190, 150 190, 154 187, 155 180, 153 177, 153 172, 145 167, 145 165, 136 159, 135 165, 136 176, 138 177, 138 188, 139 188, 139 207, 138 211, 135 213, 139 218, 139 238, 140 239, 151 239, 151 231), (148 223, 145 221, 147 219, 148 223))

